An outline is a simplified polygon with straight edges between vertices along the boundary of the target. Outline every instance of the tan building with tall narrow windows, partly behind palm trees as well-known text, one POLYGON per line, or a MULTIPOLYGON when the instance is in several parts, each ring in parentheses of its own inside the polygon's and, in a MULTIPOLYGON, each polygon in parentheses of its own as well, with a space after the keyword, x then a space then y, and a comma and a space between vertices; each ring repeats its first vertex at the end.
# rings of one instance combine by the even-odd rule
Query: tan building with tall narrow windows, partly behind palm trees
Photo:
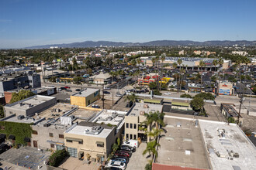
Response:
POLYGON ((137 140, 140 138, 142 141, 149 141, 147 135, 144 134, 144 131, 140 131, 139 127, 146 120, 144 116, 145 113, 149 114, 150 112, 154 113, 159 111, 160 113, 163 110, 163 105, 160 104, 143 104, 136 103, 128 112, 128 115, 125 116, 125 140, 134 139, 137 140))

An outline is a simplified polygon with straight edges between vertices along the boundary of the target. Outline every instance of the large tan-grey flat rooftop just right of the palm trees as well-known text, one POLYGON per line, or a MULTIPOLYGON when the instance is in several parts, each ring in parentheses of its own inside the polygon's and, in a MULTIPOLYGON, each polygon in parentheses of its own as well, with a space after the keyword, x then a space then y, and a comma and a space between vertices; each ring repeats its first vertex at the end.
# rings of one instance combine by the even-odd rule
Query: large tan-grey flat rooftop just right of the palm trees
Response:
POLYGON ((156 163, 189 168, 209 169, 206 149, 199 126, 195 121, 164 117, 164 129, 160 138, 156 163))

